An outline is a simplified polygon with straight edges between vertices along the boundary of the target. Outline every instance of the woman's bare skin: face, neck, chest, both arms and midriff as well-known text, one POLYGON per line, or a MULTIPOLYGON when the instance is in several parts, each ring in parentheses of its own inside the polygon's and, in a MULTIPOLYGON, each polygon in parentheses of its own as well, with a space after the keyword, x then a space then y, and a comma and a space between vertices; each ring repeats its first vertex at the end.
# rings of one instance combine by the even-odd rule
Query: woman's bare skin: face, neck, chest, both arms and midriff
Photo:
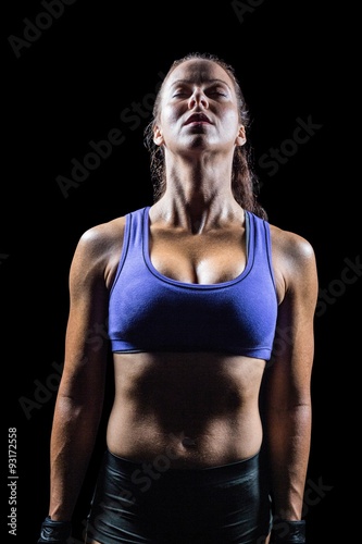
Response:
MULTIPOLYGON (((176 69, 164 90, 154 138, 165 148, 167 190, 150 209, 150 256, 165 276, 214 284, 238 276, 247 262, 245 213, 228 182, 234 147, 244 145, 245 132, 227 74, 202 62, 176 69), (183 84, 180 97, 173 91, 179 79, 191 82, 183 84), (226 98, 210 92, 215 79, 224 82, 226 98), (207 111, 211 122, 185 124, 195 108, 207 111)), ((107 364, 102 331, 124 225, 117 218, 87 231, 72 262, 65 364, 51 438, 54 520, 72 518, 97 436, 107 364)), ((297 520, 310 450, 317 279, 304 238, 274 225, 271 236, 280 337, 266 371, 266 436, 276 512, 297 520)), ((166 455, 172 467, 185 470, 247 459, 265 434, 259 413, 264 373, 264 360, 227 354, 114 354, 108 447, 132 460, 152 462, 166 455)))

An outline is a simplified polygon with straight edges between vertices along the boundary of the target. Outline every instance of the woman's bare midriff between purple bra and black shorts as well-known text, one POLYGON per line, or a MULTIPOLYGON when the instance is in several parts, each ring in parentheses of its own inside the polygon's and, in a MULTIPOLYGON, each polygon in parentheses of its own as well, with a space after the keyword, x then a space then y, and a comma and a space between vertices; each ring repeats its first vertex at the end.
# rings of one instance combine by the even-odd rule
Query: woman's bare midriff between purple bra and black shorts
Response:
POLYGON ((111 453, 192 469, 255 455, 265 361, 210 353, 114 354, 111 453))

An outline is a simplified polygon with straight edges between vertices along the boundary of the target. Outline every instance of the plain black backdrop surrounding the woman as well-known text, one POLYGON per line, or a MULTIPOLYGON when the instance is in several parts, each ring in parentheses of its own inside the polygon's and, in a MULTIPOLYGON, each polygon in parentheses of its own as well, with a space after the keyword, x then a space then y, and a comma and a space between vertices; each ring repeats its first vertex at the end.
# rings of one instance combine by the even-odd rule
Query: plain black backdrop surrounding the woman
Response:
MULTIPOLYGON (((39 15, 46 3, 8 2, 3 25, 2 390, 4 435, 17 430, 18 480, 17 535, 9 535, 7 520, 1 542, 35 543, 48 512, 50 425, 75 245, 89 226, 151 203, 142 128, 162 74, 190 51, 216 53, 235 66, 252 118, 261 201, 271 223, 298 232, 315 249, 323 293, 304 514, 311 544, 355 542, 361 227, 353 173, 359 151, 352 151, 348 124, 354 114, 357 13, 327 1, 76 0, 46 20, 39 15), (16 40, 29 37, 28 22, 51 25, 25 47, 16 40), (135 103, 141 104, 137 127, 124 116, 135 103), (310 120, 314 133, 292 143, 300 120, 310 120), (83 162, 90 140, 105 139, 113 128, 124 141, 62 193, 58 176, 71 178, 72 160, 83 162), (284 157, 273 175, 262 160, 272 148, 284 157)), ((111 393, 110 380, 109 398, 111 393)), ((104 421, 101 433, 103 428, 104 421)), ((75 512, 77 544, 102 448, 101 436, 75 512)), ((5 518, 10 489, 3 474, 5 518)))

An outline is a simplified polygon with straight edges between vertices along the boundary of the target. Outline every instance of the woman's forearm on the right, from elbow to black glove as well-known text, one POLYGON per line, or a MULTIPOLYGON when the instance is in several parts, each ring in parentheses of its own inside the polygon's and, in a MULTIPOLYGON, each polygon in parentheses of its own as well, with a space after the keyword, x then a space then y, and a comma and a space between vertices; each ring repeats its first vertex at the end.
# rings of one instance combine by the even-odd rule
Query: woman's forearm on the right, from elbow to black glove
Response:
POLYGON ((267 434, 275 517, 301 519, 310 454, 311 406, 271 410, 267 434))

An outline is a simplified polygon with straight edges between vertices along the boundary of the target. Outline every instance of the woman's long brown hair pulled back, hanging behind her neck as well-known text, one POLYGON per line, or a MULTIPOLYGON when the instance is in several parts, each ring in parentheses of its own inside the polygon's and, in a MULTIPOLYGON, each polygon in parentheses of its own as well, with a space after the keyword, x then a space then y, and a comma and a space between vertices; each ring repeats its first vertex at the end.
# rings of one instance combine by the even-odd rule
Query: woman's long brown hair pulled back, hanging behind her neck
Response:
MULTIPOLYGON (((188 53, 182 59, 177 59, 172 63, 165 79, 171 74, 171 72, 173 72, 173 70, 175 70, 175 67, 177 67, 179 64, 194 59, 205 59, 215 62, 228 74, 235 87, 239 110, 239 120, 247 132, 250 124, 249 110, 247 108, 240 84, 238 82, 238 78, 236 77, 235 69, 230 64, 227 64, 225 61, 212 53, 188 53)), ((150 153, 150 170, 151 178, 153 182, 154 201, 159 200, 162 197, 166 188, 163 148, 162 146, 157 146, 153 141, 153 128, 157 120, 160 116, 161 96, 164 81, 154 100, 152 120, 146 126, 143 132, 143 144, 150 153)), ((262 219, 267 220, 266 211, 258 201, 259 188, 259 180, 252 168, 251 147, 247 138, 247 141, 244 146, 238 146, 235 148, 232 172, 233 195, 236 201, 244 209, 255 213, 255 215, 259 215, 262 219)))

